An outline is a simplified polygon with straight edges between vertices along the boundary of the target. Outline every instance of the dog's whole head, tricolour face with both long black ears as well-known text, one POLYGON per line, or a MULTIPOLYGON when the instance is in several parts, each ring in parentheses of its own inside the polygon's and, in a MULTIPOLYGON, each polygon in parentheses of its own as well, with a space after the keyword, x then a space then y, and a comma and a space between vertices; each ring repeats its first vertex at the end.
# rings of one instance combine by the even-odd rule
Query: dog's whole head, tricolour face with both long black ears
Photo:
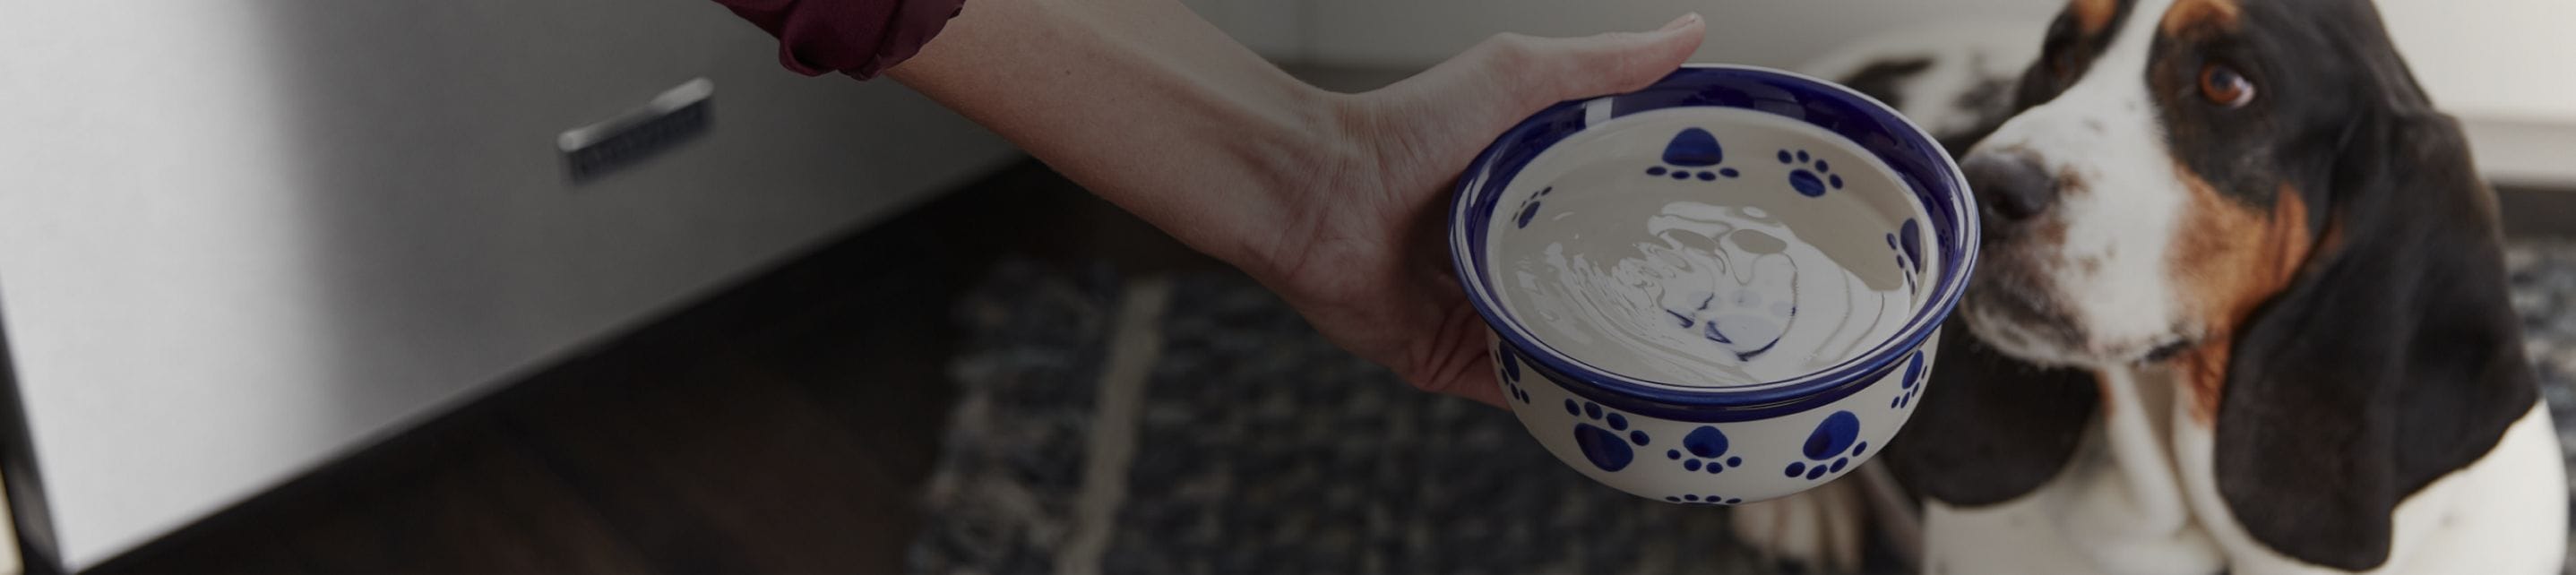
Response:
POLYGON ((1929 441, 1888 449, 1927 495, 2038 487, 2099 402, 2084 371, 2174 369, 2236 521, 2360 570, 2537 397, 2494 196, 2367 0, 2074 0, 2014 108, 1960 162, 1976 340, 1945 343, 1929 441))

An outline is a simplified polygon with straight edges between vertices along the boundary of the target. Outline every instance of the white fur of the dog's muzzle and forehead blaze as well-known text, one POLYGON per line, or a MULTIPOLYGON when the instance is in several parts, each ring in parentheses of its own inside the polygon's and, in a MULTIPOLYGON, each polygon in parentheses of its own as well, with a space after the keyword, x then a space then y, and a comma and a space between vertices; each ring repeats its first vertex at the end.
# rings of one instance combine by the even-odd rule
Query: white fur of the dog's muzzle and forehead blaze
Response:
POLYGON ((2187 206, 2187 188, 2164 147, 2164 126, 2146 88, 2148 46, 2172 0, 2141 0, 2107 52, 2056 101, 2004 121, 1971 155, 2025 155, 2048 173, 2084 180, 2043 217, 2066 222, 2050 271, 2056 299, 2089 335, 2084 348, 2022 338, 1999 317, 1965 307, 1968 325, 1996 348, 2045 364, 2128 364, 2177 338, 2179 291, 2166 268, 2169 237, 2187 206), (2099 132, 2097 132, 2099 126, 2099 132), (2097 271, 2069 266, 2097 258, 2097 271))

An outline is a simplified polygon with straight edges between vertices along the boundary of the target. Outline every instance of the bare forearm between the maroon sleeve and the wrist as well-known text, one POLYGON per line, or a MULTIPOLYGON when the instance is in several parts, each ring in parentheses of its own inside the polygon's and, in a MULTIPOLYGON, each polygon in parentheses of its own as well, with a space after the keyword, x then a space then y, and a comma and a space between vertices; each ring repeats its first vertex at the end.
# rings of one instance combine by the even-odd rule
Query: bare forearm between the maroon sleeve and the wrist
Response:
POLYGON ((889 75, 1236 266, 1337 152, 1342 95, 1172 0, 974 0, 889 75))

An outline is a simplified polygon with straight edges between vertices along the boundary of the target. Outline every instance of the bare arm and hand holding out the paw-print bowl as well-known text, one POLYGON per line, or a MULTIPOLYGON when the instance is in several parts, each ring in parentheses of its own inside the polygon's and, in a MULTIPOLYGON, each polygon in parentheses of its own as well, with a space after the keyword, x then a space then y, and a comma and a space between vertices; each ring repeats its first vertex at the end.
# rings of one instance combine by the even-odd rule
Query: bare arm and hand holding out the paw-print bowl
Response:
POLYGON ((976 0, 889 75, 1278 291, 1414 387, 1499 405, 1445 255, 1448 186, 1556 101, 1643 88, 1698 49, 1494 36, 1396 85, 1311 88, 1172 0, 976 0))

